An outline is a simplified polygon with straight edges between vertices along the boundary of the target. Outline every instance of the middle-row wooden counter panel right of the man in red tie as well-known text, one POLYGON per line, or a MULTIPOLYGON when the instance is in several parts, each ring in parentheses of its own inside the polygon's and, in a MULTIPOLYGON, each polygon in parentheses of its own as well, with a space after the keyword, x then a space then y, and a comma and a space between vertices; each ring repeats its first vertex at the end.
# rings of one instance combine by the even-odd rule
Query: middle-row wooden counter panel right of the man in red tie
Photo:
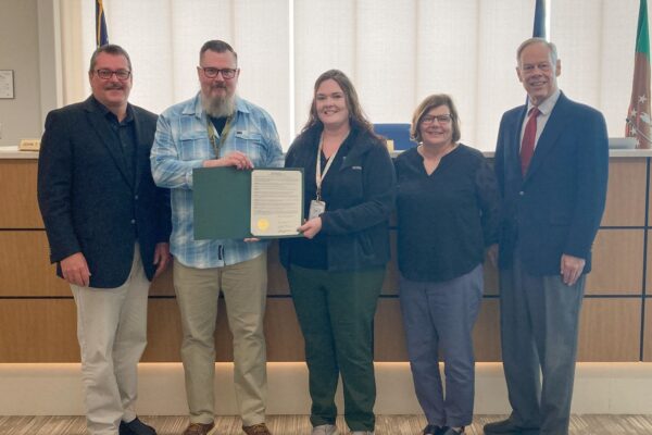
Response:
POLYGON ((640 295, 644 229, 600 229, 593 243, 593 268, 587 295, 640 295))

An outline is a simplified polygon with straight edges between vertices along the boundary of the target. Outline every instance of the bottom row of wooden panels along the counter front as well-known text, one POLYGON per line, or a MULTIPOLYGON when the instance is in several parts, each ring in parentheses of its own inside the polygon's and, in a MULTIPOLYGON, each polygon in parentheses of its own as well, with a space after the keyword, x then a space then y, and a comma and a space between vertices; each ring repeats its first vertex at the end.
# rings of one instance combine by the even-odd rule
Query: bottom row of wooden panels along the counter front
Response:
MULTIPOLYGON (((590 298, 581 314, 578 361, 638 361, 641 301, 590 298)), ((216 360, 233 359, 221 300, 215 337, 216 360)), ((72 299, 0 300, 0 362, 78 362, 76 310, 72 299), (38 337, 35 341, 34 337, 38 337)), ((652 360, 652 320, 648 316, 647 357, 652 360)), ((498 299, 485 299, 474 331, 477 361, 500 360, 498 299)), ((147 362, 179 361, 180 320, 175 299, 152 299, 148 315, 147 362)), ((290 299, 271 299, 265 319, 268 361, 303 360, 303 338, 290 299)), ((399 300, 379 301, 375 322, 377 361, 406 360, 399 300)))

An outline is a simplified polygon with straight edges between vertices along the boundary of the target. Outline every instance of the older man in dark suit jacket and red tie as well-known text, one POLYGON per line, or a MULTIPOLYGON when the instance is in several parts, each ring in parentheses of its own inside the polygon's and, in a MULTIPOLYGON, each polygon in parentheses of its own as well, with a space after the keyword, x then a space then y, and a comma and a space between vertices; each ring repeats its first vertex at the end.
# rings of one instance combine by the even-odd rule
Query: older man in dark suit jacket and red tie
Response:
POLYGON ((553 44, 528 39, 517 60, 528 102, 504 113, 496 150, 501 341, 513 411, 485 433, 563 435, 585 277, 606 196, 606 126, 600 112, 557 88, 553 44))

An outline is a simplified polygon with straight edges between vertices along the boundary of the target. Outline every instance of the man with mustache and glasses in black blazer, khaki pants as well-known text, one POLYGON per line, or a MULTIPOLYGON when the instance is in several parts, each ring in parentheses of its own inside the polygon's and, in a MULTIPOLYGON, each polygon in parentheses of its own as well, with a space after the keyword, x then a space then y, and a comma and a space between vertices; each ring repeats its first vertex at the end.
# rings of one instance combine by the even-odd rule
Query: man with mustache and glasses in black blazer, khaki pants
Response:
POLYGON ((38 164, 50 260, 71 285, 91 435, 153 435, 135 413, 150 281, 170 262, 170 197, 152 179, 156 115, 127 102, 131 62, 92 54, 92 96, 53 110, 38 164))

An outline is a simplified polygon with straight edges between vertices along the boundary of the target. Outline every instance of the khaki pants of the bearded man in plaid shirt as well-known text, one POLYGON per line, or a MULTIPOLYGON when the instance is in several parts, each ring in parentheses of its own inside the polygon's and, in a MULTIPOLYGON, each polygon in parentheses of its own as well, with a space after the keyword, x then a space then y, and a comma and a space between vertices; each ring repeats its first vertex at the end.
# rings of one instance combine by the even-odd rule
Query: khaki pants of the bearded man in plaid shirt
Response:
POLYGON ((246 426, 265 421, 267 372, 263 320, 267 294, 267 254, 224 268, 196 269, 174 262, 184 340, 181 360, 190 422, 214 420, 215 324, 224 294, 234 335, 236 399, 246 426))

